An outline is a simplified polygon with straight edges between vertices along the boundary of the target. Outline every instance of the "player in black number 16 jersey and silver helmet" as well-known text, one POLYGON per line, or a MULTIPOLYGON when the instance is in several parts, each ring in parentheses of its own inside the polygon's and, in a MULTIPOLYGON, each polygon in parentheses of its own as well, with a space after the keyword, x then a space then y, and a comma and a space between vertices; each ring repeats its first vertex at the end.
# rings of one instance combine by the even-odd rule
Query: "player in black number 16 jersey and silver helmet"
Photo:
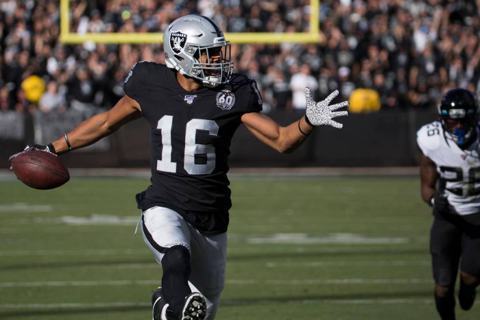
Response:
POLYGON ((144 117, 150 125, 151 185, 136 197, 146 245, 162 265, 152 294, 154 320, 214 319, 225 282, 227 159, 240 124, 280 152, 298 148, 347 101, 316 103, 305 89, 306 115, 286 127, 262 111, 256 82, 232 74, 230 44, 209 18, 187 15, 168 26, 166 65, 139 62, 125 79, 125 96, 109 111, 80 123, 48 146, 56 154, 82 148, 144 117))

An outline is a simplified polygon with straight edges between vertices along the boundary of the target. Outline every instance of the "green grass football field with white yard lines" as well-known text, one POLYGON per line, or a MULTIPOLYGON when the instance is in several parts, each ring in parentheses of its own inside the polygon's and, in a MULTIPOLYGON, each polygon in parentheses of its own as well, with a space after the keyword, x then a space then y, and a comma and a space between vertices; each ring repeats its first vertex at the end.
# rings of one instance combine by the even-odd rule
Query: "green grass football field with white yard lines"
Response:
MULTIPOLYGON (((219 320, 439 319, 416 177, 233 177, 219 320)), ((0 319, 148 320, 146 178, 0 180, 0 319)), ((457 319, 480 319, 480 301, 457 319)))

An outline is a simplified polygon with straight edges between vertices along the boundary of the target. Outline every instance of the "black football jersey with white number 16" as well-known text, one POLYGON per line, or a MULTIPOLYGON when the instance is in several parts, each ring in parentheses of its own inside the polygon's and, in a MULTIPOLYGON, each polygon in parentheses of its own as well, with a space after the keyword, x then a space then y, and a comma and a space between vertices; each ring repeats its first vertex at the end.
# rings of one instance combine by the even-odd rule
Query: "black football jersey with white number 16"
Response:
POLYGON ((167 207, 204 234, 225 232, 230 142, 240 117, 262 110, 255 81, 233 74, 228 84, 188 92, 174 70, 139 62, 123 90, 150 124, 151 185, 137 195, 139 208, 167 207))

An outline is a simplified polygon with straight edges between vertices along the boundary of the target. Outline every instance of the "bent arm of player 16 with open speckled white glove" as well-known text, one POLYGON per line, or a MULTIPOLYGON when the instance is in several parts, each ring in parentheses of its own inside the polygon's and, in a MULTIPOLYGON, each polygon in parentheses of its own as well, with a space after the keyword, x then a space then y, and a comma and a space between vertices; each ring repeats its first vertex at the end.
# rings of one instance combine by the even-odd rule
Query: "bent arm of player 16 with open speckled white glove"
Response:
POLYGON ((244 114, 241 122, 267 146, 282 153, 290 153, 305 141, 316 126, 331 125, 342 128, 343 125, 333 121, 332 118, 348 115, 347 111, 334 112, 336 109, 347 106, 348 101, 329 105, 337 95, 338 90, 331 93, 325 100, 316 103, 310 94, 310 89, 305 88, 306 115, 286 127, 280 126, 268 116, 258 112, 244 114))

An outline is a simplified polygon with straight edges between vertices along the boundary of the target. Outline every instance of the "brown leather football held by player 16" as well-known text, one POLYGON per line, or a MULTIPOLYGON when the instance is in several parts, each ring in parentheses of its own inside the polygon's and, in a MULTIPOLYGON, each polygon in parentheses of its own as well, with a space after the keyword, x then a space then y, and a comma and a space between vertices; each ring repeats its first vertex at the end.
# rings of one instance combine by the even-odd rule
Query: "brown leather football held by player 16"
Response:
POLYGON ((47 151, 25 151, 12 159, 11 166, 20 181, 35 189, 53 189, 70 180, 60 159, 47 151))

